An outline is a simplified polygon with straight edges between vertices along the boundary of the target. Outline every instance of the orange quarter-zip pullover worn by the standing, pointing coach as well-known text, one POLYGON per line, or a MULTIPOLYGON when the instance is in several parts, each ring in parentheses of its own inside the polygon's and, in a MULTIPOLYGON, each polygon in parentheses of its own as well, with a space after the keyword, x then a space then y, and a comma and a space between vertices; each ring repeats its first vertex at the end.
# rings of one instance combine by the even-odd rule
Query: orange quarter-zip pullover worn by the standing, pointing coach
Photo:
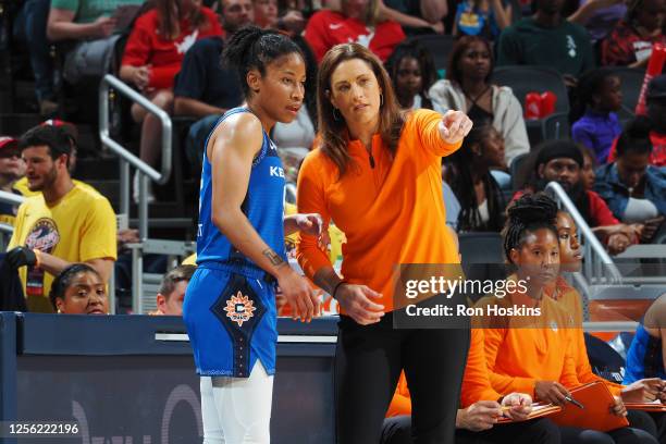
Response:
MULTIPOLYGON (((345 281, 380 292, 386 311, 393 310, 397 264, 459 263, 455 240, 445 230, 441 158, 461 143, 442 140, 441 119, 430 110, 410 112, 393 160, 375 134, 374 168, 363 145, 351 140, 347 150, 355 165, 340 181, 337 166, 319 148, 306 157, 298 175, 298 212, 320 213, 325 224, 333 220, 345 233, 345 281)), ((297 258, 310 279, 331 267, 314 236, 301 234, 297 258)))

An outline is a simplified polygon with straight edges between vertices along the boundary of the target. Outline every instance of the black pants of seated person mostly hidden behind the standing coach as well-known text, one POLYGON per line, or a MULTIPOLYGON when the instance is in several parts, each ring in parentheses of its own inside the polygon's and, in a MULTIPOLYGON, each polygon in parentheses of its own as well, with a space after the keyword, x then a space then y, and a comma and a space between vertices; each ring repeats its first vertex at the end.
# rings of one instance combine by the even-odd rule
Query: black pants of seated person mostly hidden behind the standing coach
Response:
MULTIPOLYGON (((498 424, 482 432, 456 430, 456 444, 559 444, 559 429, 545 418, 498 424)), ((381 444, 411 444, 411 418, 400 416, 384 420, 381 444)))

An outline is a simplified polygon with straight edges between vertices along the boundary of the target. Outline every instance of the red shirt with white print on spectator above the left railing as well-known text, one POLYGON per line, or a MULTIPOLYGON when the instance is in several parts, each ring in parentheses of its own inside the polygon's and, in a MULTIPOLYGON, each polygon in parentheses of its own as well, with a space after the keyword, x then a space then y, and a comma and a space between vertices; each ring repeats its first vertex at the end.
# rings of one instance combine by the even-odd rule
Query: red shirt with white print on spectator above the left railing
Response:
POLYGON ((178 22, 181 34, 176 39, 165 39, 158 35, 158 11, 151 10, 137 18, 127 40, 123 65, 144 66, 150 64, 148 86, 157 89, 172 88, 174 77, 181 71, 185 52, 195 41, 210 37, 221 36, 222 27, 215 13, 201 8, 206 24, 193 29, 187 17, 178 22))

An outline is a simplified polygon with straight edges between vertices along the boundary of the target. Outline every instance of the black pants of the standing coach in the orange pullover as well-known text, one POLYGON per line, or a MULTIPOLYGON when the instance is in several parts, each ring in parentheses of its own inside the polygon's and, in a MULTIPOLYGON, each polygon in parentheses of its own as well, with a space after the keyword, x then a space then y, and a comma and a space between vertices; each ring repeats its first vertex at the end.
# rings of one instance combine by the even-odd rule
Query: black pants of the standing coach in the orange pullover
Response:
POLYGON ((341 316, 335 357, 340 444, 380 441, 400 370, 412 404, 416 444, 453 442, 469 329, 398 330, 393 313, 372 325, 341 316))

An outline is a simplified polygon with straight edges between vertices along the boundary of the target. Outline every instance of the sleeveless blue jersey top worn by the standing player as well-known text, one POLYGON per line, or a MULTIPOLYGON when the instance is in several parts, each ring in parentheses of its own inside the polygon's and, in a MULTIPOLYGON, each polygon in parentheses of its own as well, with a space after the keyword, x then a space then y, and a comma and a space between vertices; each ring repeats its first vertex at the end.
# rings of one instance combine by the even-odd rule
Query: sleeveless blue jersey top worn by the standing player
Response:
MULTIPOLYGON (((230 115, 251 112, 247 108, 234 108, 218 121, 215 127, 230 115)), ((212 134, 212 133, 211 133, 212 134)), ((209 136, 210 138, 210 136, 209 136)), ((206 141, 206 146, 208 140, 206 141)), ((208 156, 203 156, 201 189, 199 193, 199 225, 197 233, 197 263, 207 261, 233 264, 257 271, 259 267, 240 255, 229 239, 212 223, 212 172, 208 156)), ((263 132, 261 150, 252 161, 252 169, 243 201, 243 212, 259 236, 286 261, 284 248, 283 199, 284 170, 275 145, 263 132)))

